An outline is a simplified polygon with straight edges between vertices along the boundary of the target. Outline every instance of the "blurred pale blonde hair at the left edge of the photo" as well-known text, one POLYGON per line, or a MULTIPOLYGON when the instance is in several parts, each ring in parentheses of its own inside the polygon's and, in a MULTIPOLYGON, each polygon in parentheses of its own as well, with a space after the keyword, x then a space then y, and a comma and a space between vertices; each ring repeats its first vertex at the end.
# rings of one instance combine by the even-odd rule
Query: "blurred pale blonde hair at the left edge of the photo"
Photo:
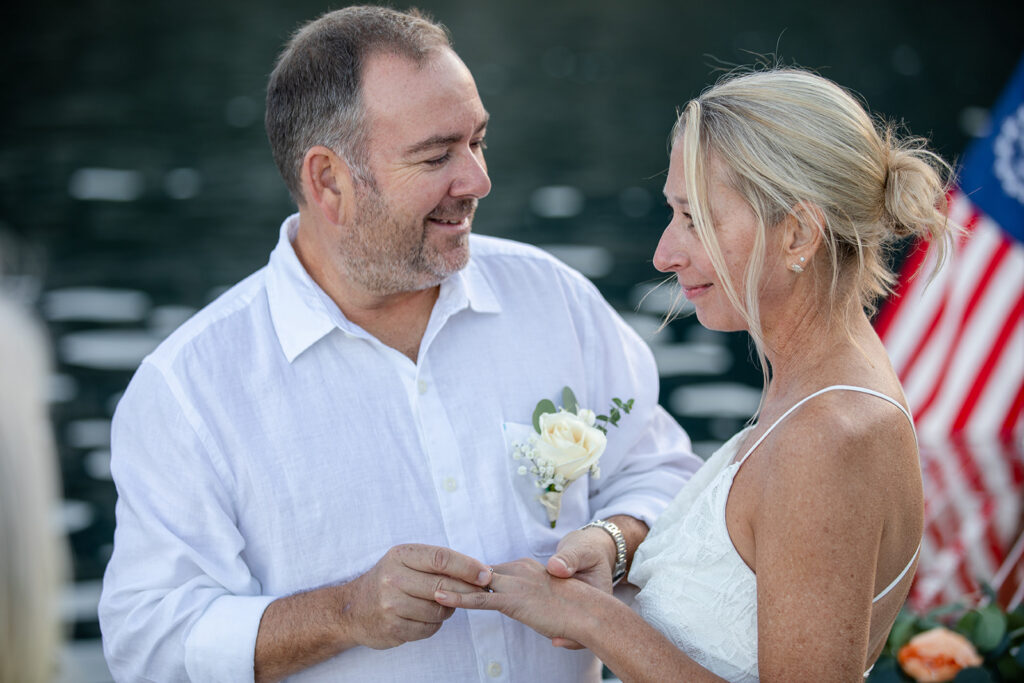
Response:
POLYGON ((42 334, 0 298, 0 683, 49 681, 60 640, 65 547, 44 396, 42 334))

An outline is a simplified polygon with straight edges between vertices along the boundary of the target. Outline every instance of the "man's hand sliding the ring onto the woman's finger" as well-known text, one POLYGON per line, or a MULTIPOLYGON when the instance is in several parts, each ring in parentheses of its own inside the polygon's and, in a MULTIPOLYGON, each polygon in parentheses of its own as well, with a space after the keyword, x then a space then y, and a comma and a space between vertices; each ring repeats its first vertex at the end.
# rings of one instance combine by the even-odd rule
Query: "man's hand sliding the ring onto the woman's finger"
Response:
POLYGON ((342 614, 358 644, 386 649, 429 638, 452 616, 453 608, 434 601, 436 591, 472 593, 489 582, 486 565, 454 550, 395 546, 349 584, 342 614))

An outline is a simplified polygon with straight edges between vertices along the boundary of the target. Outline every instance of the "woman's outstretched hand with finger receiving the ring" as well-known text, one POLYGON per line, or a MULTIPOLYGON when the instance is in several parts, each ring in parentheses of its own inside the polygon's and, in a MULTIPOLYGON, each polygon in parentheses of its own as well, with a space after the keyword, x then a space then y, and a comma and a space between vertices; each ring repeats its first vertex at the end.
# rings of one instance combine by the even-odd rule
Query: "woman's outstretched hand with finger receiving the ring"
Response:
POLYGON ((588 595, 600 593, 582 581, 552 577, 532 559, 495 566, 487 588, 489 593, 437 591, 434 599, 446 607, 498 610, 548 638, 579 642, 588 595))

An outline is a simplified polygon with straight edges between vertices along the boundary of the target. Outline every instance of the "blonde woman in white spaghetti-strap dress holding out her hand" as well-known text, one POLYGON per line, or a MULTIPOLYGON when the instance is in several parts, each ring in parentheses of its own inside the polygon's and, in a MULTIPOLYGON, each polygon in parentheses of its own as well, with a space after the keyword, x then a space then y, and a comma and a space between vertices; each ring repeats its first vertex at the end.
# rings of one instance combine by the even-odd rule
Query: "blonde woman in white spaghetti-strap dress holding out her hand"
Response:
POLYGON ((893 282, 890 244, 921 236, 944 250, 956 229, 947 169, 807 72, 732 76, 689 102, 654 265, 702 325, 754 338, 757 423, 638 549, 637 613, 532 560, 496 567, 492 593, 438 602, 500 609, 624 680, 860 679, 923 529, 913 423, 868 315, 893 282))

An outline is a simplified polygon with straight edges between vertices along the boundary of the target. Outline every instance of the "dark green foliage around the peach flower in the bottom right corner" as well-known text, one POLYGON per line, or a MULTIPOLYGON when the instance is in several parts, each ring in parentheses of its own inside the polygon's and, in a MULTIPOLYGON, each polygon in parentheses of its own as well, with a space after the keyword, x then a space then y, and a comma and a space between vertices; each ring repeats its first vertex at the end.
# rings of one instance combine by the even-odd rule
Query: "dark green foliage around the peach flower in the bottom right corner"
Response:
POLYGON ((900 669, 896 655, 919 633, 945 627, 966 637, 984 658, 981 667, 964 669, 953 683, 1020 683, 1024 681, 1024 605, 1011 612, 994 602, 968 609, 944 605, 926 614, 905 609, 896 617, 886 648, 867 679, 869 683, 912 681, 900 669))

